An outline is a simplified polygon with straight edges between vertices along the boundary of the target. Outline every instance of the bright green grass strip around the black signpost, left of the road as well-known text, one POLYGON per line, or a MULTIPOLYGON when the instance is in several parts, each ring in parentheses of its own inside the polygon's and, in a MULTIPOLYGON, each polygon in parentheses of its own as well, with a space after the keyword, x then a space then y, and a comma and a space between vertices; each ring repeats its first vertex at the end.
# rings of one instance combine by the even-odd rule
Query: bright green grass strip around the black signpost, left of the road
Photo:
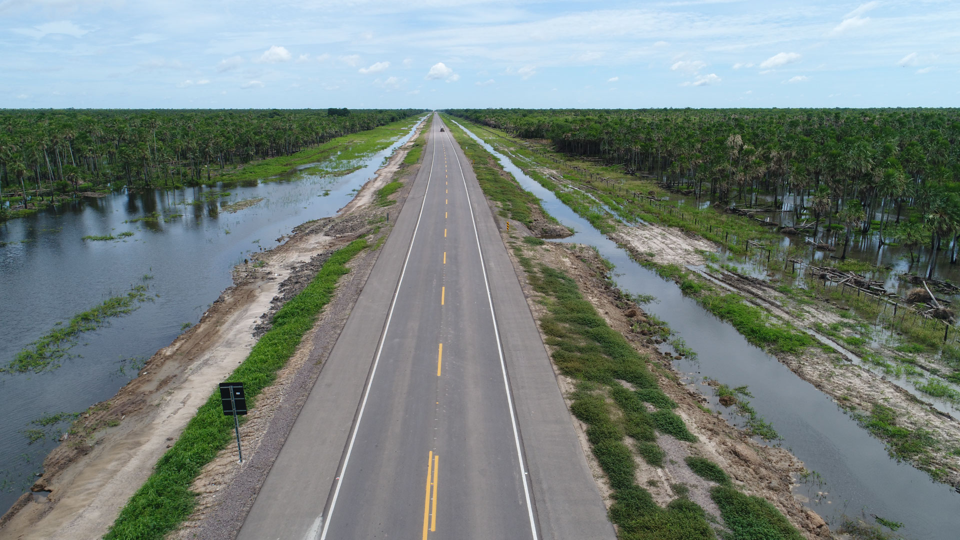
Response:
MULTIPOLYGON (((300 345, 303 333, 313 326, 332 298, 340 277, 349 272, 348 260, 366 247, 367 240, 361 238, 334 252, 313 281, 276 312, 270 331, 263 334, 250 356, 227 379, 244 383, 248 406, 254 406, 256 396, 276 380, 276 371, 286 364, 300 345)), ((105 538, 159 540, 176 528, 194 507, 196 494, 190 491, 190 483, 204 464, 230 442, 232 434, 233 421, 224 415, 220 393, 215 391, 120 511, 105 538)))

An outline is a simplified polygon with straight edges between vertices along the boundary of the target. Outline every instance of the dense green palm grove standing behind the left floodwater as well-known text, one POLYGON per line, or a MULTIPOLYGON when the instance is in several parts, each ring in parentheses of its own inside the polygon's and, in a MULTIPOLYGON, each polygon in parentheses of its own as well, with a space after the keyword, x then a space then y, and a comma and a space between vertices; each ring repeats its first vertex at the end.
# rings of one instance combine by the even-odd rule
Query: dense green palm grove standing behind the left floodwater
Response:
MULTIPOLYGON (((3 110, 0 192, 25 209, 81 189, 206 184, 216 180, 213 171, 289 156, 418 112, 3 110)), ((12 215, 4 206, 0 219, 12 215)))

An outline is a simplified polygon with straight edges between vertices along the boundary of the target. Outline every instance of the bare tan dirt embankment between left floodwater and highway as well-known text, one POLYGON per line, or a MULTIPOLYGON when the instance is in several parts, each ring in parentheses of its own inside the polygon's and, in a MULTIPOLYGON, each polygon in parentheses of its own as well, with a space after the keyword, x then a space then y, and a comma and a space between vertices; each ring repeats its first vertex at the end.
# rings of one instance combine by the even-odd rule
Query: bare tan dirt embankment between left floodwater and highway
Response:
MULTIPOLYGON (((0 519, 0 538, 92 539, 106 533, 212 389, 248 356, 270 315, 313 279, 332 250, 362 233, 371 234, 371 245, 377 245, 378 238, 389 233, 387 209, 372 206, 373 193, 384 184, 402 180, 397 176, 415 177, 419 165, 402 166, 413 140, 400 147, 336 216, 301 225, 286 236, 282 245, 234 268, 234 285, 204 313, 197 326, 158 351, 136 379, 107 402, 91 406, 71 427, 60 447, 44 460, 43 476, 33 486, 34 493, 24 494, 0 519), (409 174, 397 175, 400 169, 409 174)), ((406 199, 412 182, 407 184, 392 197, 397 200, 389 207, 392 212, 398 213, 406 199)), ((396 213, 391 222, 396 220, 396 213)), ((325 358, 314 352, 316 345, 332 348, 378 251, 366 250, 350 262, 353 271, 342 280, 332 306, 324 310, 313 331, 308 332, 295 356, 278 372, 276 382, 263 391, 248 416, 246 426, 250 428, 243 430, 243 466, 259 462, 264 478, 269 463, 264 465, 263 456, 272 462, 286 437, 286 432, 276 432, 272 423, 278 428, 287 426, 287 430, 292 426, 300 410, 297 405, 305 400, 325 358), (307 358, 315 358, 309 365, 316 367, 316 373, 304 373, 307 358), (292 405, 284 401, 291 396, 292 405), (283 408, 281 404, 290 406, 283 408), (277 411, 282 411, 282 418, 277 418, 277 411), (271 444, 262 444, 268 427, 276 436, 270 439, 271 444)), ((229 486, 240 467, 234 445, 204 468, 193 486, 202 494, 190 521, 193 527, 204 523, 209 508, 215 505, 216 494, 229 486)), ((259 484, 247 483, 255 495, 259 484)), ((237 514, 233 511, 230 515, 237 514)))

